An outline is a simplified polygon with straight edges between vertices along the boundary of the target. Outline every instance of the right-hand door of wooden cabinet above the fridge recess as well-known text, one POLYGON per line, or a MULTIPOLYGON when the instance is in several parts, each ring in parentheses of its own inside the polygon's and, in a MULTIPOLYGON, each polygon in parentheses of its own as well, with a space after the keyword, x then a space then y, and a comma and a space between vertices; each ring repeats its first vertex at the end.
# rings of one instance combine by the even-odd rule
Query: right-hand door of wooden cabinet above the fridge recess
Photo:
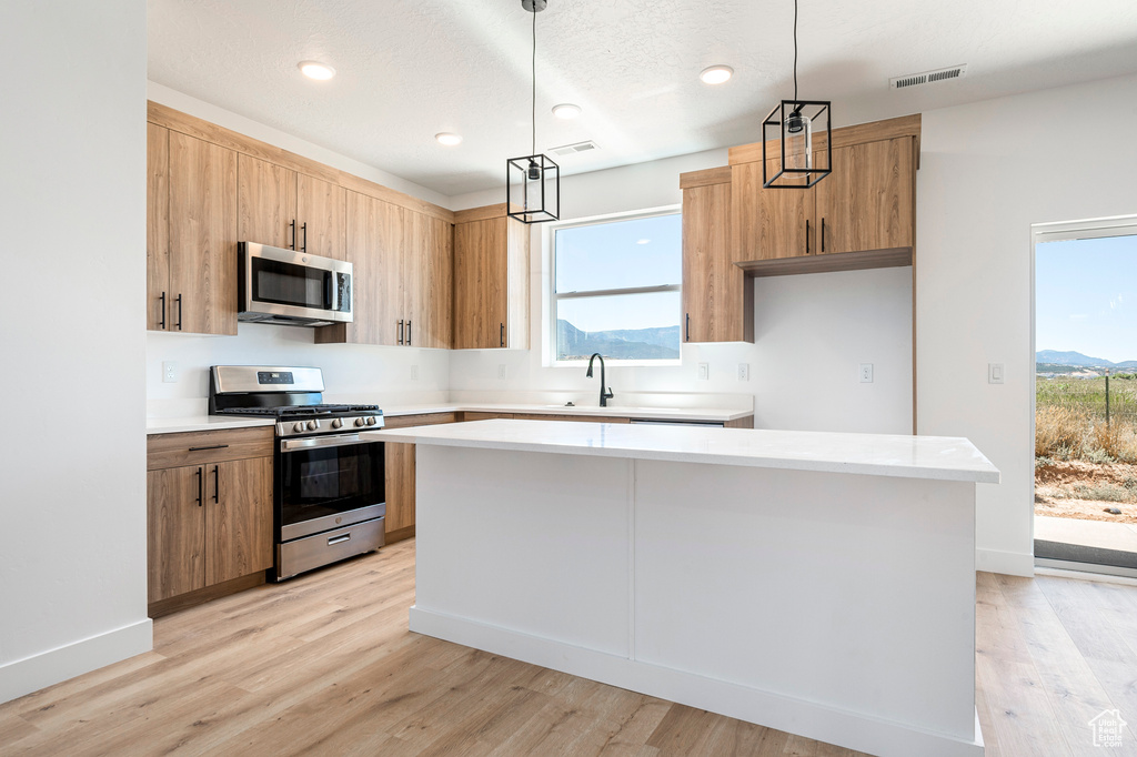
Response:
POLYGON ((818 251, 912 247, 915 166, 911 138, 835 148, 833 170, 815 188, 818 251))

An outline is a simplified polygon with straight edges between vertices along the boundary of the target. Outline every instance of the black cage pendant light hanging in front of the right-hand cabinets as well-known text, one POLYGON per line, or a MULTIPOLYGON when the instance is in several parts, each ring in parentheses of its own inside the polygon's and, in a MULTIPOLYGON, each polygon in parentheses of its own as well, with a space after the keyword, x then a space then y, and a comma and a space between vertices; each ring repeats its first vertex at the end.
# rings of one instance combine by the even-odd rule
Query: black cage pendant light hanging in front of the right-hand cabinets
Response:
POLYGON ((825 100, 797 99, 797 0, 794 0, 794 99, 782 100, 762 122, 763 186, 808 189, 829 175, 833 165, 830 105, 825 100), (822 130, 824 149, 815 152, 813 136, 822 130))

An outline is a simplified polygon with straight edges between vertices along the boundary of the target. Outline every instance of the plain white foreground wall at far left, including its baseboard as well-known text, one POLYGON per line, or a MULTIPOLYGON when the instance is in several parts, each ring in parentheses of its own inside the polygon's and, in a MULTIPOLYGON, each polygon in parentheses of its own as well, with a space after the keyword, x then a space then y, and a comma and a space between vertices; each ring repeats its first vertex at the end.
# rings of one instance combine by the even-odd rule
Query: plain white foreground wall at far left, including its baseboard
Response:
POLYGON ((146 2, 0 5, 0 701, 150 649, 146 2))

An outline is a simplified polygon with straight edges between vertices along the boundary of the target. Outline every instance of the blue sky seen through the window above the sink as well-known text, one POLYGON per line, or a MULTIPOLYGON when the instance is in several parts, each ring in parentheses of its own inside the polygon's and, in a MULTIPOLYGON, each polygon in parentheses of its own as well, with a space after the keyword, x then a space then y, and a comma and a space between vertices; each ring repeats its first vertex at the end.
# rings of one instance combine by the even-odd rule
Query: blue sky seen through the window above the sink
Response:
MULTIPOLYGON (((558 292, 682 282, 679 214, 556 231, 558 292)), ((564 300, 559 317, 583 331, 674 326, 678 292, 564 300)))

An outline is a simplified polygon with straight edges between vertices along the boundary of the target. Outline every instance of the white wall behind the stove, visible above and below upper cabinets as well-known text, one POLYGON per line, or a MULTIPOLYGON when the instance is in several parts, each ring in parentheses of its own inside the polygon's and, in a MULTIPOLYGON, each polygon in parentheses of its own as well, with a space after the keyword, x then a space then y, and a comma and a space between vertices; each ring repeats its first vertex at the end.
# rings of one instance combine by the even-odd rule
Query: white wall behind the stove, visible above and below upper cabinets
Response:
MULTIPOLYGON (((449 207, 448 198, 379 168, 332 152, 319 145, 250 120, 169 88, 149 82, 147 97, 274 144, 325 165, 334 166, 406 192, 429 202, 449 207)), ((200 413, 205 407, 210 365, 314 365, 324 369, 327 399, 345 394, 385 405, 445 399, 449 381, 449 352, 405 347, 314 344, 312 328, 239 324, 236 336, 199 336, 147 332, 147 399, 151 415, 200 413), (176 383, 163 383, 163 361, 177 364, 176 383), (412 373, 417 378, 412 378, 412 373)))

